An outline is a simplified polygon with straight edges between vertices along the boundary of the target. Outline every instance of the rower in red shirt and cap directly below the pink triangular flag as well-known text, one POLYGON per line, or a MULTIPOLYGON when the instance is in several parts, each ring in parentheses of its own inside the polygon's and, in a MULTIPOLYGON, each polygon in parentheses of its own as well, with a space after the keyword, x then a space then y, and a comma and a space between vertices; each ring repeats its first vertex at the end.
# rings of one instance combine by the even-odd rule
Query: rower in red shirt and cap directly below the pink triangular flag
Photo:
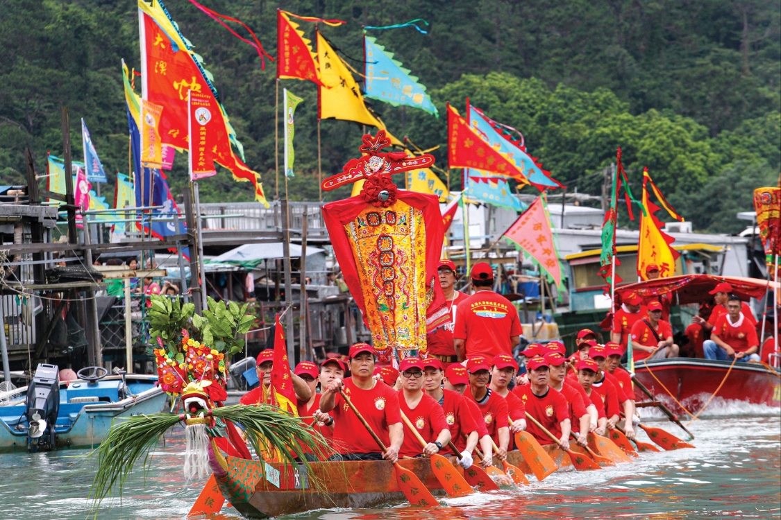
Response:
MULTIPOLYGON (((529 384, 515 387, 513 391, 521 398, 526 412, 537 419, 546 430, 558 438, 558 446, 562 450, 569 450, 569 408, 566 398, 548 386, 550 373, 547 361, 536 357, 526 363, 529 369, 529 384)), ((540 428, 531 423, 528 429, 540 444, 553 444, 553 441, 540 428)))

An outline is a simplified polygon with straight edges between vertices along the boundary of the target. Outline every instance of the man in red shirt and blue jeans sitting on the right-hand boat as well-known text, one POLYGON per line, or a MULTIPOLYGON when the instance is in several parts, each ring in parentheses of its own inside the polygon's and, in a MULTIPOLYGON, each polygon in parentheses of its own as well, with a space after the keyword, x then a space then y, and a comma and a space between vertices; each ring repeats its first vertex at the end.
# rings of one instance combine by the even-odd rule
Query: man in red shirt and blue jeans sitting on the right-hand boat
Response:
POLYGON ((711 339, 702 344, 705 359, 726 361, 735 358, 743 363, 760 361, 757 329, 741 312, 741 303, 736 295, 729 295, 727 313, 716 320, 711 339))

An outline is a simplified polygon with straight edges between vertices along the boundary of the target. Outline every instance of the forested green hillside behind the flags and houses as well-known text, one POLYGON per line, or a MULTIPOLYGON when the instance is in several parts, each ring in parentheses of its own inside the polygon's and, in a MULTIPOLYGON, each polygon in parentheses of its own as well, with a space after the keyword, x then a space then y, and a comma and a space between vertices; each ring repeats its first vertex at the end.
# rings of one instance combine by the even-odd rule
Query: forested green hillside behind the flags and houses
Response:
MULTIPOLYGON (((235 16, 276 55, 276 9, 347 21, 321 26, 343 57, 362 69, 362 26, 423 18, 411 27, 371 30, 428 87, 440 119, 414 108, 371 101, 392 133, 420 147, 440 146, 445 164, 444 104, 465 97, 491 118, 522 131, 556 179, 600 193, 601 169, 624 150, 639 187, 647 166, 695 228, 734 232, 736 210, 751 209, 751 190, 775 183, 781 168, 781 7, 758 0, 205 0, 235 16)), ((61 154, 59 106, 70 107, 74 157, 81 117, 107 171, 127 172, 122 58, 140 67, 134 0, 5 0, 0 17, 0 176, 20 182, 29 144, 39 168, 61 154)), ((214 75, 220 100, 244 144, 246 162, 274 184, 273 62, 187 0, 166 2, 184 36, 214 75)), ((313 36, 312 23, 301 28, 313 36)), ((304 98, 296 114, 297 176, 291 198, 316 200, 316 87, 282 80, 304 98)), ((362 129, 322 122, 323 175, 357 153, 362 129)), ((187 179, 177 154, 174 193, 187 179)), ((459 176, 453 171, 451 183, 459 176)), ((110 179, 112 180, 112 179, 110 179)), ((103 186, 103 193, 112 187, 103 186)), ((527 188, 528 189, 528 188, 527 188)), ((202 183, 203 200, 251 200, 250 186, 221 171, 202 183)), ((333 196, 331 194, 330 196, 333 196)))

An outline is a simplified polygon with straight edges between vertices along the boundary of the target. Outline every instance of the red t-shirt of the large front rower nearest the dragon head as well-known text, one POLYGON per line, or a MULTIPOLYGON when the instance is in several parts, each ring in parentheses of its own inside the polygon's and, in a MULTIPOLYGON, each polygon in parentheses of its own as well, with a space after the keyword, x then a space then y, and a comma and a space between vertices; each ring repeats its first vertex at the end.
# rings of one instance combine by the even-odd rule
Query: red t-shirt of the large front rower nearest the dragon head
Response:
MULTIPOLYGON (((382 381, 375 381, 370 390, 362 390, 348 377, 344 380, 344 393, 383 444, 391 444, 388 426, 401 423, 396 391, 382 381)), ((336 396, 336 407, 329 413, 333 417, 333 449, 339 453, 382 451, 341 395, 336 396)))

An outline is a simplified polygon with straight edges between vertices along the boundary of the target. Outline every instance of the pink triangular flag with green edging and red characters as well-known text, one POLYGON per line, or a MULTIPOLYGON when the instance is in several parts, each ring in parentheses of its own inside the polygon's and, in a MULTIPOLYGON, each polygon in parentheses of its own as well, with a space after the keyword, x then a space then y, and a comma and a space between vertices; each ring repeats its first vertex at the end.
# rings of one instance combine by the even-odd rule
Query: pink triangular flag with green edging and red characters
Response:
POLYGON ((557 286, 562 284, 562 268, 558 263, 551 221, 541 195, 508 228, 504 237, 531 256, 557 286))

